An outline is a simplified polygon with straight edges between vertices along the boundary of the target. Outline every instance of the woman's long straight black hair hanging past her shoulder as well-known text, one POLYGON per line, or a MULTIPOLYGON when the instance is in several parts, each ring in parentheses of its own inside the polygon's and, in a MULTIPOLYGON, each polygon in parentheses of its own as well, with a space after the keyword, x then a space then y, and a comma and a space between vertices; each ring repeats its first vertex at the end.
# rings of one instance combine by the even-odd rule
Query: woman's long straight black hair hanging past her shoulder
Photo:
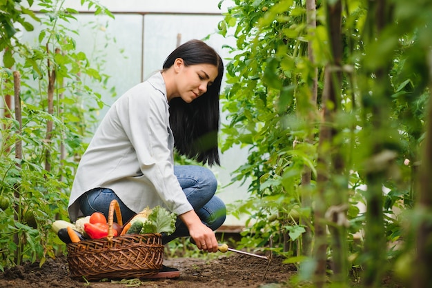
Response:
POLYGON ((166 58, 163 69, 170 68, 177 58, 183 59, 186 66, 215 65, 217 77, 213 84, 208 86, 207 92, 191 103, 184 102, 180 97, 170 101, 170 126, 175 138, 175 149, 179 154, 203 164, 220 165, 217 133, 224 63, 213 48, 199 40, 190 40, 179 45, 166 58))

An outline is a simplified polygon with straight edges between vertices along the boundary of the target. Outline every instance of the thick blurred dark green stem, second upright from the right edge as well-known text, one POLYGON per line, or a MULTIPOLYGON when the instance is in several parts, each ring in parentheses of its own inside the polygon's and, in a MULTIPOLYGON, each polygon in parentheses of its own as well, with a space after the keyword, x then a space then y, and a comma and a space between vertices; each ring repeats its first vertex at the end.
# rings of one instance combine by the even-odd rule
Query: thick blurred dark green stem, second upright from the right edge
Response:
MULTIPOLYGON (((369 21, 371 28, 366 33, 364 41, 366 45, 373 43, 382 37, 386 37, 383 30, 387 25, 392 25, 391 3, 386 0, 369 1, 369 21), (384 35, 383 35, 384 34, 384 35)), ((369 53, 375 53, 370 51, 369 53)), ((382 64, 377 68, 365 68, 364 77, 368 78, 371 74, 375 75, 373 84, 365 83, 364 85, 364 129, 373 132, 370 137, 365 137, 363 142, 369 145, 370 151, 366 155, 365 176, 367 191, 366 198, 366 225, 364 226, 364 285, 366 287, 381 287, 382 277, 386 269, 386 239, 384 228, 384 214, 382 212, 383 197, 382 183, 387 179, 386 172, 389 167, 389 161, 393 161, 392 153, 386 150, 386 143, 389 143, 389 107, 391 107, 390 95, 393 92, 389 73, 391 71, 393 57, 389 55, 382 64), (367 94, 372 92, 369 99, 367 94), (366 114, 371 114, 370 117, 366 114), (379 136, 377 136, 379 135, 379 136), (390 153, 389 153, 390 152, 390 153), (389 155, 389 156, 386 156, 389 155), (382 165, 383 156, 388 157, 385 165, 382 165)))

